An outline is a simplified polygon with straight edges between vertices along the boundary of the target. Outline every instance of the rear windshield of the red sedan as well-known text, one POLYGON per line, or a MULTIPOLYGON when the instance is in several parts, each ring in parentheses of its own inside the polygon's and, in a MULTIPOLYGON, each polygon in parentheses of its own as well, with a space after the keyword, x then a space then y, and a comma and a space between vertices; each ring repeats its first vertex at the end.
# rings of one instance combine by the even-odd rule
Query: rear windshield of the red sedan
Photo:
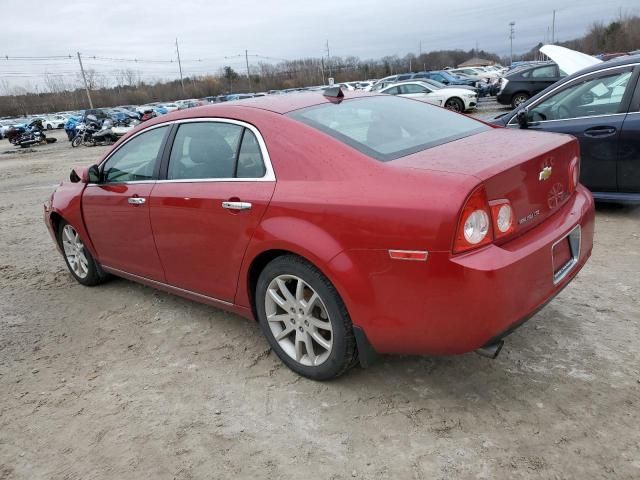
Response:
POLYGON ((382 162, 491 128, 443 108, 393 96, 327 103, 288 115, 382 162))

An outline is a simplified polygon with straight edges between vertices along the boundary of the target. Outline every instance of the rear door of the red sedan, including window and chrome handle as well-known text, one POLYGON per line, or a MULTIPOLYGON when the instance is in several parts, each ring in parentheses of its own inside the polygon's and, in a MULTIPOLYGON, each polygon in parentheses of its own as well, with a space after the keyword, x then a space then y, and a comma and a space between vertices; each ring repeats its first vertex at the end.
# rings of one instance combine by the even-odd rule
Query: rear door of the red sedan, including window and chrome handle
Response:
POLYGON ((151 195, 155 243, 170 285, 233 302, 240 265, 275 188, 257 129, 179 122, 151 195))

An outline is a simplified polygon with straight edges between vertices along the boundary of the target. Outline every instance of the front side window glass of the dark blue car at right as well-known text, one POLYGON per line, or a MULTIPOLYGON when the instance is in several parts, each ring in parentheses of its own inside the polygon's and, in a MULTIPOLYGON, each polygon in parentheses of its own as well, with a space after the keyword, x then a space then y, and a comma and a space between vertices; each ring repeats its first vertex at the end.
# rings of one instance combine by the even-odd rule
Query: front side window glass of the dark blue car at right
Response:
POLYGON ((631 70, 574 83, 529 109, 533 122, 619 113, 631 70))

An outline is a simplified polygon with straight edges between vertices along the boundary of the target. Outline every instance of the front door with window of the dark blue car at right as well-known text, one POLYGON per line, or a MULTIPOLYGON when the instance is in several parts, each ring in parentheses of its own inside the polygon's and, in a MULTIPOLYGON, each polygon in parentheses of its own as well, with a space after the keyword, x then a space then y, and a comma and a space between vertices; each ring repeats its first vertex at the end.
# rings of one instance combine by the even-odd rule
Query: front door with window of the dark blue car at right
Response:
MULTIPOLYGON (((601 70, 578 77, 529 106, 530 128, 578 138, 580 180, 590 190, 618 189, 620 131, 629 106, 632 67, 601 70)), ((514 116, 510 127, 517 127, 514 116)))

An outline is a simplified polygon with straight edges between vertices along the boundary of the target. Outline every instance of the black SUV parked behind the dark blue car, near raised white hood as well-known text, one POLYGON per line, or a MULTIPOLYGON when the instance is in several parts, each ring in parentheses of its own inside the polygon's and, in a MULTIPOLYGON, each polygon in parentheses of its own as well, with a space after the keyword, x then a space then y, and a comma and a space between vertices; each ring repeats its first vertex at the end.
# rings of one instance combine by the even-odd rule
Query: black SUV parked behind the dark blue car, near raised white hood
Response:
POLYGON ((496 99, 498 103, 516 108, 563 76, 555 63, 518 68, 500 79, 496 99))

